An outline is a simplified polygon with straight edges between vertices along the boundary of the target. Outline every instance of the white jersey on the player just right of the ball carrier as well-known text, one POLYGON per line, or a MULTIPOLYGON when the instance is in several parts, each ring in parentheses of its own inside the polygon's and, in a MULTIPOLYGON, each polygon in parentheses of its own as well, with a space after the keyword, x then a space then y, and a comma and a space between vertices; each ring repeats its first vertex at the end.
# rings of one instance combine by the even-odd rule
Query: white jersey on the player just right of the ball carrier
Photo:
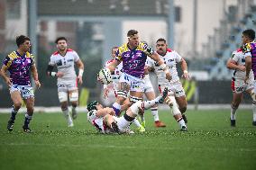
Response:
POLYGON ((156 64, 156 62, 147 58, 146 66, 154 69, 154 72, 158 76, 159 85, 169 85, 169 83, 174 83, 179 81, 178 72, 176 64, 181 61, 181 56, 179 56, 178 52, 174 50, 167 51, 165 56, 160 56, 160 58, 164 61, 166 66, 169 69, 169 73, 172 76, 172 79, 169 81, 166 79, 166 74, 162 71, 162 69, 156 64))

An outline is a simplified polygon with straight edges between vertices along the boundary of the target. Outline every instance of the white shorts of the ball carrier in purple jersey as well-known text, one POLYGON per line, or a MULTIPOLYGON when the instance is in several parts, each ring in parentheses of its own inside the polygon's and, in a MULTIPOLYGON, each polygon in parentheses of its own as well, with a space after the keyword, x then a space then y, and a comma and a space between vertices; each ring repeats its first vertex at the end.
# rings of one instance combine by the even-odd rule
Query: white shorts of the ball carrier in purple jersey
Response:
POLYGON ((119 83, 125 82, 130 85, 130 91, 132 92, 143 92, 145 81, 143 78, 138 78, 135 76, 123 73, 120 77, 119 83))

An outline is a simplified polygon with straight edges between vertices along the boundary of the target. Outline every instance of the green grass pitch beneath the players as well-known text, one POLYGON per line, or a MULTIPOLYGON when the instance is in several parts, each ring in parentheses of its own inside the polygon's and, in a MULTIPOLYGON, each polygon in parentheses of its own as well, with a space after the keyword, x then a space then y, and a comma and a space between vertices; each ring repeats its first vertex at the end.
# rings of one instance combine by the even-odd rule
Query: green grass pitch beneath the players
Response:
POLYGON ((251 111, 239 111, 231 128, 229 111, 187 111, 188 132, 168 112, 167 127, 156 129, 146 112, 147 131, 135 135, 102 135, 85 113, 68 129, 62 114, 36 113, 33 134, 22 131, 23 114, 14 131, 6 131, 9 114, 0 114, 0 169, 256 169, 256 127, 251 111))

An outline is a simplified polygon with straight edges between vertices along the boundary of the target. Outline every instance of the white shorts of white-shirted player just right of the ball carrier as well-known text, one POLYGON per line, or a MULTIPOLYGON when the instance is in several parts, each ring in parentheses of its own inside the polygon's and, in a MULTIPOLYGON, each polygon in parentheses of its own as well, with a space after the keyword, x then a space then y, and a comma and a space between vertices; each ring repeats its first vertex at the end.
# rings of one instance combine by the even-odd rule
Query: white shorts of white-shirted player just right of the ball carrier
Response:
POLYGON ((168 90, 169 90, 168 94, 169 95, 173 95, 175 97, 186 96, 185 90, 184 90, 182 84, 180 83, 180 81, 174 82, 174 83, 169 84, 169 85, 159 85, 160 93, 163 92, 165 87, 168 88, 168 90))

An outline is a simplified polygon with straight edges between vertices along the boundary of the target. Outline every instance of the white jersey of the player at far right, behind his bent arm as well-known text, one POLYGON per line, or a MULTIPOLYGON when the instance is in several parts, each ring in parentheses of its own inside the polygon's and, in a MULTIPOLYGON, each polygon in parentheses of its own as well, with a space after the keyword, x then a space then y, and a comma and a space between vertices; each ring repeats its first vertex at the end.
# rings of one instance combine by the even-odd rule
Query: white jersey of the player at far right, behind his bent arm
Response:
MULTIPOLYGON (((231 56, 231 59, 237 63, 237 65, 245 65, 245 58, 242 53, 242 49, 234 50, 231 56)), ((246 76, 245 71, 240 71, 239 69, 235 69, 233 71, 234 79, 242 79, 244 80, 246 76)), ((249 79, 253 78, 253 73, 250 71, 249 79)))

